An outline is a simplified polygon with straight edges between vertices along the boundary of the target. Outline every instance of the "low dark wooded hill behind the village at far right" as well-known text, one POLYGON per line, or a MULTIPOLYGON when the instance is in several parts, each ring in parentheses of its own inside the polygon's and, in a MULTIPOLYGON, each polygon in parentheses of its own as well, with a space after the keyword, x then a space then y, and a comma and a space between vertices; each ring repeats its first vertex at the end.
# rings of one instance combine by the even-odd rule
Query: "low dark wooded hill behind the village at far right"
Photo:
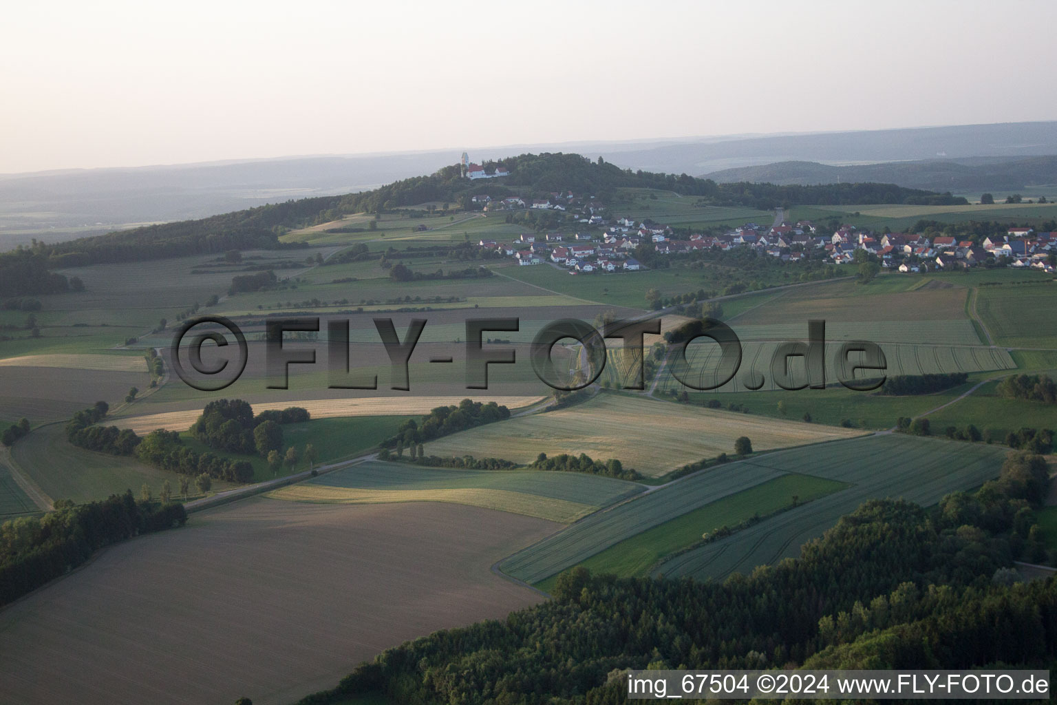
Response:
POLYGON ((780 185, 880 182, 930 191, 998 191, 1004 194, 1027 186, 1057 184, 1057 155, 1026 159, 976 156, 853 166, 778 162, 723 169, 705 174, 705 178, 722 184, 740 181, 780 185))

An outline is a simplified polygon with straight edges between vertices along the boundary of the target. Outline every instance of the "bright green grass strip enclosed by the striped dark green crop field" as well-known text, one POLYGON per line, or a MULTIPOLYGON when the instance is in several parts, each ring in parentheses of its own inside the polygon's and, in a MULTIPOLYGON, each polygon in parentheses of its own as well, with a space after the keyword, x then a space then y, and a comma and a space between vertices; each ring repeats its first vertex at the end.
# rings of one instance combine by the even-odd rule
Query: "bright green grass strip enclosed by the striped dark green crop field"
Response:
MULTIPOLYGON (((594 573, 613 573, 620 577, 645 576, 659 560, 693 545, 701 540, 702 534, 721 526, 734 526, 754 516, 767 516, 790 508, 794 496, 798 503, 804 503, 846 486, 840 482, 809 475, 783 475, 625 539, 591 556, 580 565, 594 573)), ((536 587, 549 591, 555 577, 536 587)))

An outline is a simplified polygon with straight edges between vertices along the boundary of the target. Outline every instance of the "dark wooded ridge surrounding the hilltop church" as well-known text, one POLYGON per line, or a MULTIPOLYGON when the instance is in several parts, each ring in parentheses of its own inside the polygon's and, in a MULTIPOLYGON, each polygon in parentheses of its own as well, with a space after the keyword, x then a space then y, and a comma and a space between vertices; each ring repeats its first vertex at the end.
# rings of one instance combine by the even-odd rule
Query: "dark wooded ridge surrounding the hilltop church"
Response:
MULTIPOLYGON (((384 212, 428 201, 470 205, 475 193, 495 197, 546 197, 572 190, 612 201, 617 188, 657 188, 693 196, 705 204, 768 209, 790 205, 855 205, 865 203, 964 203, 949 193, 903 188, 892 184, 829 184, 776 186, 774 184, 717 184, 687 174, 651 173, 620 169, 599 159, 579 154, 521 154, 503 160, 511 171, 501 180, 469 181, 457 165, 428 177, 415 177, 381 188, 347 196, 288 201, 237 210, 201 220, 150 225, 69 242, 36 245, 34 253, 51 267, 104 262, 130 262, 190 254, 217 254, 248 247, 279 247, 286 229, 335 220, 353 212, 384 212)), ((496 163, 484 165, 494 170, 496 163)), ((289 245, 293 246, 293 245, 289 245)), ((0 260, 0 268, 3 267, 0 260)), ((31 292, 25 292, 31 293, 31 292)))

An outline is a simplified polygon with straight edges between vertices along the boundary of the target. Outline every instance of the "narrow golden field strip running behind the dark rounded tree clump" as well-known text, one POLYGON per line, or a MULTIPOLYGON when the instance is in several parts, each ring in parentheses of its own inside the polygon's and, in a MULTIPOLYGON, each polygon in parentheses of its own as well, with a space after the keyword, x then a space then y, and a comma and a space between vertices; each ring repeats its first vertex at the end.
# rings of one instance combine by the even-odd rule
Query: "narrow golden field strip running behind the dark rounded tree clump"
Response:
MULTIPOLYGON (((268 409, 285 409, 299 406, 308 409, 313 419, 333 419, 335 416, 407 416, 429 413, 439 406, 459 404, 465 396, 402 396, 402 397, 369 397, 344 400, 302 400, 299 402, 268 402, 254 404, 254 411, 268 409)), ((542 396, 486 396, 475 398, 475 402, 495 402, 511 409, 528 406, 542 401, 542 396)), ((152 413, 143 416, 129 416, 115 420, 113 425, 118 428, 131 428, 136 433, 149 433, 155 428, 168 431, 186 431, 202 413, 201 409, 189 411, 169 411, 152 413)))

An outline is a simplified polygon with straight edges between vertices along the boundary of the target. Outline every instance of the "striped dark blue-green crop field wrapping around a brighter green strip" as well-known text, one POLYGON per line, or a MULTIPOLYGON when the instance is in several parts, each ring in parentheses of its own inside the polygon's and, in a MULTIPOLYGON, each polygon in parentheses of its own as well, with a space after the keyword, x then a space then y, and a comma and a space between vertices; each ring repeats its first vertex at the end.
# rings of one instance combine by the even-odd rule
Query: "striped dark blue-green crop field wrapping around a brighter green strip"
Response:
POLYGON ((1005 450, 980 444, 871 435, 766 453, 716 466, 592 515, 504 560, 504 573, 536 583, 610 546, 701 506, 789 472, 848 483, 847 489, 764 520, 665 562, 659 573, 722 577, 795 555, 836 520, 872 498, 932 504, 947 493, 997 477, 1005 450))

